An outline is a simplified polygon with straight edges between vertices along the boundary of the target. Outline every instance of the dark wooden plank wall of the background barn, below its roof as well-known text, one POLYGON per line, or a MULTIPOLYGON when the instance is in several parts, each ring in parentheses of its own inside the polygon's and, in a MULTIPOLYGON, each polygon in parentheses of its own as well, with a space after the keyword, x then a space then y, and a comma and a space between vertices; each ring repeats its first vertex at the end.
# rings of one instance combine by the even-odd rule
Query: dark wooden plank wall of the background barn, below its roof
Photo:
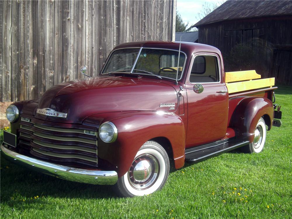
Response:
MULTIPOLYGON (((275 77, 276 83, 292 85, 292 16, 273 16, 225 20, 199 26, 199 43, 220 49, 226 62, 226 71, 240 70, 244 60, 230 69, 228 57, 235 46, 246 45, 252 49, 254 62, 265 65, 266 71, 257 71, 262 77, 275 77), (283 52, 284 51, 284 52, 283 52), (281 53, 281 54, 279 54, 281 53)), ((238 54, 240 57, 242 54, 238 54)), ((251 54, 250 54, 251 55, 251 54)), ((260 67, 260 66, 259 66, 260 67)), ((246 66, 250 70, 249 66, 246 66)))

